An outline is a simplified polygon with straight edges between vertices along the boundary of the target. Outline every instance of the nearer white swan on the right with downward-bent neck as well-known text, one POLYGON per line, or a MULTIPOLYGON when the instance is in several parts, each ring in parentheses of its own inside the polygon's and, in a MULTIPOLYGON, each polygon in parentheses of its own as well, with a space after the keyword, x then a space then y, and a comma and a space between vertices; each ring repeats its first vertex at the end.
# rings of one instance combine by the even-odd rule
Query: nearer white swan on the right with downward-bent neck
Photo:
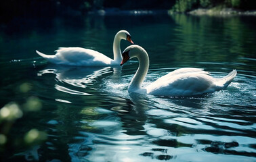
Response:
POLYGON ((236 70, 233 70, 223 78, 213 78, 209 72, 205 72, 202 69, 181 68, 158 78, 158 80, 142 88, 142 82, 148 72, 148 53, 138 45, 131 45, 125 49, 122 55, 121 65, 130 58, 137 57, 139 59, 139 68, 129 84, 129 92, 159 96, 192 96, 224 89, 236 76, 236 70))

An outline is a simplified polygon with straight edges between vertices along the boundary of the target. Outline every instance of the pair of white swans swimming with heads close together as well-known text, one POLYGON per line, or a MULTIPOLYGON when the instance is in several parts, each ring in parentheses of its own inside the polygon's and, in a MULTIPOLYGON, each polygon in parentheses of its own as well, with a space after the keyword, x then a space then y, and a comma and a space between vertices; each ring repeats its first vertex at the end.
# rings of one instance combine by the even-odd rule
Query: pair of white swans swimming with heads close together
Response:
POLYGON ((142 88, 142 83, 148 73, 148 53, 138 45, 130 45, 121 54, 120 42, 122 39, 133 44, 129 32, 125 30, 117 32, 113 44, 114 59, 97 51, 79 47, 60 48, 56 50, 56 55, 45 55, 39 51, 37 53, 52 63, 84 66, 123 65, 129 59, 137 57, 139 68, 129 84, 128 91, 140 94, 174 97, 204 94, 226 88, 236 76, 236 70, 223 78, 213 78, 209 72, 202 69, 180 68, 142 88))

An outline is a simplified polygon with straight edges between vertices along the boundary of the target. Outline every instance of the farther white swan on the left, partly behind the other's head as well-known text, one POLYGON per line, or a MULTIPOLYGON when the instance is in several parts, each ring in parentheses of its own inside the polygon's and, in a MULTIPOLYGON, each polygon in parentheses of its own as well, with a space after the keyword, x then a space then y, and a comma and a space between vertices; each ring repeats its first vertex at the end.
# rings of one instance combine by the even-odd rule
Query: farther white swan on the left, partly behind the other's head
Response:
POLYGON ((56 50, 55 55, 45 55, 36 50, 37 54, 47 59, 51 63, 62 65, 81 65, 81 66, 108 66, 119 65, 122 60, 120 42, 121 40, 131 41, 131 35, 126 30, 120 30, 114 36, 113 53, 114 59, 110 59, 106 55, 94 51, 92 49, 84 49, 81 47, 61 47, 56 50))

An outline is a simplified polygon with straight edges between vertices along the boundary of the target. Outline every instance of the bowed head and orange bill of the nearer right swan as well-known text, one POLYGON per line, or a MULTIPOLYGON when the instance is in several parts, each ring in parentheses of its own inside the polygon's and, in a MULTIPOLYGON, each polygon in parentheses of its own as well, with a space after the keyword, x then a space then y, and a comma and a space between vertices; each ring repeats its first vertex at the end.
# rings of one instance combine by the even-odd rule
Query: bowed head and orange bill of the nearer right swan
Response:
MULTIPOLYGON (((140 55, 142 53, 146 53, 145 49, 143 49, 139 45, 130 45, 123 51, 123 53, 122 53, 123 60, 120 65, 123 65, 129 59, 132 59, 133 57, 140 57, 140 55)), ((148 55, 148 54, 146 53, 146 55, 148 55)))

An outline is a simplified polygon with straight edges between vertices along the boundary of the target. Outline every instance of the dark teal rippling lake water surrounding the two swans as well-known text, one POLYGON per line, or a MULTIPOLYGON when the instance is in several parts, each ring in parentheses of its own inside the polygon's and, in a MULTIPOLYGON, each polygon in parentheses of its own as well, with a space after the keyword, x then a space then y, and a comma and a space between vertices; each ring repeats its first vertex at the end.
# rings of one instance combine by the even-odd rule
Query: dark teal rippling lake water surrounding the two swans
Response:
MULTIPOLYGON (((2 24, 0 103, 22 113, 0 121, 1 159, 255 161, 255 22, 124 15, 2 24), (82 68, 53 65, 35 53, 87 47, 112 57, 121 29, 149 54, 144 86, 186 67, 205 68, 216 78, 236 69, 238 76, 226 90, 197 97, 129 94, 136 59, 123 68, 82 68)), ((121 48, 128 45, 123 41, 121 48)))

